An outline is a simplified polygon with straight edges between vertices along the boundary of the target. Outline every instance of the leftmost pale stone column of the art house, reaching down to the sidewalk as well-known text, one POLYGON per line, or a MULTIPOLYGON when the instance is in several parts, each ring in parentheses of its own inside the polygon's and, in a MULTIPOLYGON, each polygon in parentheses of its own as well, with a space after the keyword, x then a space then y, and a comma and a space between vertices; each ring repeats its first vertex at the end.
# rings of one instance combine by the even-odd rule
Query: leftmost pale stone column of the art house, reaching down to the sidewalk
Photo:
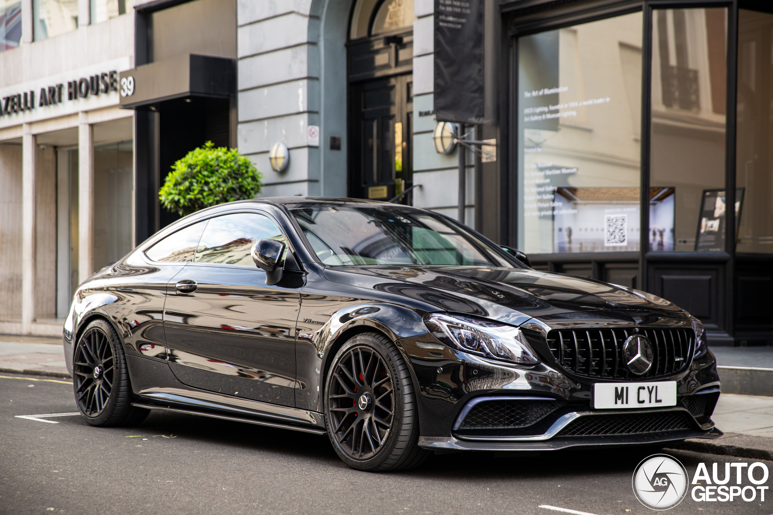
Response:
POLYGON ((22 333, 35 320, 35 135, 22 127, 22 333))

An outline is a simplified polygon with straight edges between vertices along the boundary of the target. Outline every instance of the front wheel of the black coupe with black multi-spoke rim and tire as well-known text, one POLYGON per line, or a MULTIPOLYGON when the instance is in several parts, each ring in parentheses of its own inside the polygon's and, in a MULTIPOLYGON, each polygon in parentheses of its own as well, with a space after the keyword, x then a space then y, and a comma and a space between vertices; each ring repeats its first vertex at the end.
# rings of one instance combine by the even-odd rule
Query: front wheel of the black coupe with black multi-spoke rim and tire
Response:
POLYGON ((325 425, 333 449, 352 469, 410 469, 429 455, 417 446, 419 415, 408 365, 382 334, 357 334, 335 354, 325 381, 325 425))

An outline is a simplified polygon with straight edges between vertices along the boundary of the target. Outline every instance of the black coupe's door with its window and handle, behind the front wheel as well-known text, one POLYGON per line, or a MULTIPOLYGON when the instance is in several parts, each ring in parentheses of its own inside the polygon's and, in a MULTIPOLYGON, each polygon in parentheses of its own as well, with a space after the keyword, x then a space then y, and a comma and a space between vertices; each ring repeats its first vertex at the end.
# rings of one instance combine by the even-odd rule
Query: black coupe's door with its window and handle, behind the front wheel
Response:
POLYGON ((250 256, 259 239, 285 241, 264 213, 209 219, 194 262, 169 283, 169 364, 186 385, 295 406, 295 323, 303 282, 267 286, 266 273, 250 256))

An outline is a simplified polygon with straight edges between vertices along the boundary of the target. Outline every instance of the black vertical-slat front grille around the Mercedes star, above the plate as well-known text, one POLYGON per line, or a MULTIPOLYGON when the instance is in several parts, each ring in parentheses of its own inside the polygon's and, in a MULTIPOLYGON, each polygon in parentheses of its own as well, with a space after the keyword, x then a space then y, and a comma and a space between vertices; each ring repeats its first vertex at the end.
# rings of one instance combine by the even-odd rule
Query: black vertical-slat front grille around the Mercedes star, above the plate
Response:
POLYGON ((632 329, 557 329, 547 334, 547 345, 558 363, 575 374, 608 378, 655 378, 686 367, 693 348, 692 329, 642 329, 655 353, 644 375, 625 368, 623 344, 632 329))

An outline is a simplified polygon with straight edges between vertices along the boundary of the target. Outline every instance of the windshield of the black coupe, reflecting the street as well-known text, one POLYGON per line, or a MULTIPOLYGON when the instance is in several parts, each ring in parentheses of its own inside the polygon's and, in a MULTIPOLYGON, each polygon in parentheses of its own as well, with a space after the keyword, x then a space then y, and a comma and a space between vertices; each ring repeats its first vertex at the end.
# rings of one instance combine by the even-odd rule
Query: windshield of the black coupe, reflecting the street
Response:
POLYGON ((348 265, 513 265, 440 216, 389 206, 292 208, 318 259, 348 265))

